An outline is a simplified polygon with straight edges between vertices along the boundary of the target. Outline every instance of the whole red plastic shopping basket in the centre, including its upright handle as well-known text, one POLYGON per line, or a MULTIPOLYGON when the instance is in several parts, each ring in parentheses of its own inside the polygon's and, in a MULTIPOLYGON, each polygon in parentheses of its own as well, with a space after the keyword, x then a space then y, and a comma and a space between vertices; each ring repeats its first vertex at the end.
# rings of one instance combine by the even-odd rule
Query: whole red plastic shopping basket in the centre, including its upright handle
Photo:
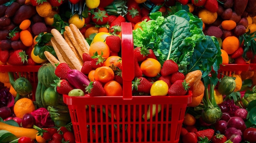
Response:
POLYGON ((184 96, 132 96, 132 27, 122 23, 123 96, 63 95, 76 143, 178 143, 191 91, 184 96), (147 114, 150 108, 149 114, 147 114), (153 117, 153 108, 159 110, 153 117), (148 119, 143 115, 148 115, 148 119))

